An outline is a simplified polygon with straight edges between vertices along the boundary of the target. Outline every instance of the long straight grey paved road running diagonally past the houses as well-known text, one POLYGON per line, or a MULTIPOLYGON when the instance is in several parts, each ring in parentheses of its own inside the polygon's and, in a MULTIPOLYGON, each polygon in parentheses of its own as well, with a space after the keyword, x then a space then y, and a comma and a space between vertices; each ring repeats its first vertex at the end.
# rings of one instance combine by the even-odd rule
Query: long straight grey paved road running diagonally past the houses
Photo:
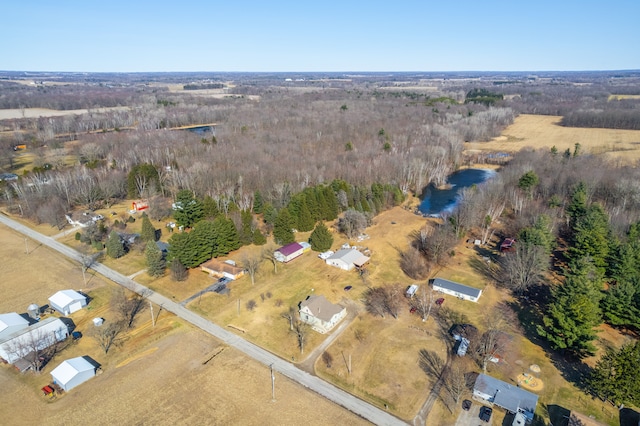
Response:
MULTIPOLYGON (((43 245, 50 247, 53 250, 58 251, 59 253, 79 263, 81 262, 80 253, 78 253, 71 247, 65 246, 64 244, 55 241, 53 238, 42 235, 39 232, 34 231, 33 229, 30 229, 12 219, 9 219, 3 214, 0 214, 0 223, 5 224, 6 226, 28 236, 29 238, 32 238, 35 241, 42 243, 43 245)), ((311 389, 319 395, 322 395, 330 401, 335 402, 336 404, 346 408, 347 410, 371 421, 372 423, 375 423, 377 425, 406 424, 402 420, 392 416, 386 411, 377 408, 367 402, 364 402, 316 376, 312 376, 311 374, 298 369, 290 362, 278 358, 277 356, 260 348, 259 346, 256 346, 253 343, 248 342, 241 337, 236 336, 235 334, 223 329, 222 327, 215 325, 211 321, 208 321, 201 316, 189 311, 184 306, 180 306, 179 303, 176 303, 171 299, 136 283, 132 279, 127 278, 126 276, 114 271, 111 268, 106 267, 101 263, 94 263, 91 268, 99 274, 112 280, 113 282, 143 295, 153 303, 161 306, 162 309, 167 310, 184 319, 185 321, 190 322, 194 326, 220 339, 225 344, 239 350, 240 352, 243 352, 256 361, 264 365, 272 365, 273 369, 280 374, 300 383, 301 385, 311 389)))

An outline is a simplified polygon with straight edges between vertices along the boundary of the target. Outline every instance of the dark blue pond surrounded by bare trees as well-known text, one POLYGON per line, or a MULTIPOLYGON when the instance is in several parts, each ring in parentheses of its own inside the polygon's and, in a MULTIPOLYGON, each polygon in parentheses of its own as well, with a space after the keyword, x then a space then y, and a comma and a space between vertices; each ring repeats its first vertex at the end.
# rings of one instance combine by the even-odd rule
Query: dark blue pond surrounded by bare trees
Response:
POLYGON ((439 216, 450 212, 458 203, 458 193, 463 188, 477 185, 495 175, 489 169, 464 169, 449 176, 448 187, 438 189, 433 185, 427 186, 422 192, 422 202, 418 212, 425 216, 439 216))

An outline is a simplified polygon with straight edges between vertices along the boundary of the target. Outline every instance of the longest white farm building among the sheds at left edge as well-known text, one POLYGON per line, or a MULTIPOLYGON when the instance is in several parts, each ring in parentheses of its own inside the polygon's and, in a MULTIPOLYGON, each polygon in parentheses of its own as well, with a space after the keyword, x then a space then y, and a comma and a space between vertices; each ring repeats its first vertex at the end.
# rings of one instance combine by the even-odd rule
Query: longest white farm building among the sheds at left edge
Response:
POLYGON ((13 364, 31 352, 63 341, 68 335, 69 329, 60 318, 49 317, 0 338, 0 358, 13 364))

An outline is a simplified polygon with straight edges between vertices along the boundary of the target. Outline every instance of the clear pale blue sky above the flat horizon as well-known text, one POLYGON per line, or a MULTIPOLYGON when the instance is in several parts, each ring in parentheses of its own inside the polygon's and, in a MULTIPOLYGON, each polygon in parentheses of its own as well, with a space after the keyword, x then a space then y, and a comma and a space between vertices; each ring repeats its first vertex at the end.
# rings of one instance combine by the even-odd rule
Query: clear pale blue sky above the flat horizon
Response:
POLYGON ((0 70, 640 69, 637 0, 10 0, 0 70))

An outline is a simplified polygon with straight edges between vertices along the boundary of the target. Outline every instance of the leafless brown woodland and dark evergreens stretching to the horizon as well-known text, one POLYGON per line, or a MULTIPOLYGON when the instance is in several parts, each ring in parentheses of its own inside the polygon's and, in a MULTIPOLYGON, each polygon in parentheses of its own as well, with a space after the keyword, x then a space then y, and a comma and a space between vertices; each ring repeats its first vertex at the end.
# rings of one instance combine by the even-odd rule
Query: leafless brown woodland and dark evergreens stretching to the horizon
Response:
MULTIPOLYGON (((519 113, 562 115, 565 126, 640 128, 640 100, 611 98, 640 92, 633 72, 452 77, 459 78, 433 77, 422 87, 425 76, 415 75, 289 82, 225 75, 197 83, 95 75, 63 76, 55 85, 7 78, 0 108, 88 111, 0 121, 0 169, 20 175, 0 182, 3 203, 62 228, 74 209, 147 200, 152 219, 171 217, 189 230, 171 236, 165 261, 155 229, 143 226, 150 274, 170 265, 180 280, 185 267, 263 245, 266 235, 286 244, 294 230, 315 229, 312 248, 323 251, 332 243, 324 222, 337 219, 338 231, 357 237, 378 213, 471 165, 464 143, 498 136, 519 113), (189 90, 168 88, 178 83, 189 90), (98 107, 122 108, 92 111, 98 107), (206 126, 172 129, 185 125, 206 126), (17 149, 22 144, 30 165, 17 149)), ((617 404, 637 403, 637 388, 611 371, 629 358, 640 362, 640 171, 606 163, 580 144, 564 153, 526 149, 504 163, 494 178, 462 191, 442 220, 409 236, 411 244, 399 249, 402 270, 425 279, 464 239, 486 245, 494 236, 515 238, 514 250, 485 267, 487 279, 512 290, 535 318, 532 339, 544 338, 571 362, 596 353, 603 322, 627 333, 635 346, 608 350, 582 385, 617 404)), ((131 248, 116 232, 128 220, 118 217, 111 229, 90 225, 77 238, 119 258, 131 248)), ((396 283, 369 287, 367 308, 397 318, 402 293, 396 283)), ((428 317, 426 309, 420 314, 428 317)), ((485 369, 487 354, 479 357, 485 369)))

